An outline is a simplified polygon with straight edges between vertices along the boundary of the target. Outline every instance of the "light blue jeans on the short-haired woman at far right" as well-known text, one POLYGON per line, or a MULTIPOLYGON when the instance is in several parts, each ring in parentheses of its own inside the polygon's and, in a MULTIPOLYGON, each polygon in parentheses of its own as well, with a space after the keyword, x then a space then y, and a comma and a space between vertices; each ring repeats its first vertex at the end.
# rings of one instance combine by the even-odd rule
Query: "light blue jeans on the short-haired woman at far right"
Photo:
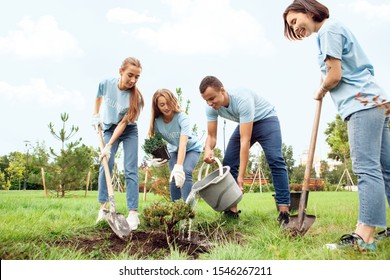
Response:
POLYGON ((352 114, 348 137, 352 170, 358 177, 358 223, 386 227, 386 200, 390 205, 389 117, 372 108, 352 114))

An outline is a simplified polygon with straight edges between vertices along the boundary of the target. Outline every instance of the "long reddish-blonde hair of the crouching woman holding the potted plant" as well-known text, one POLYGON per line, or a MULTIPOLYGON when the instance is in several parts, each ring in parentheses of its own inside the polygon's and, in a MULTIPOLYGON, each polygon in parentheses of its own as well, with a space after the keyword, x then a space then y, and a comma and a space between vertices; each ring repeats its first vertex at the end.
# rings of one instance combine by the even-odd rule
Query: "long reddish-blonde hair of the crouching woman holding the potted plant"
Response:
POLYGON ((152 98, 152 111, 150 117, 150 125, 149 125, 149 137, 154 135, 154 121, 161 115, 160 109, 158 108, 158 99, 160 97, 164 97, 167 100, 168 106, 172 108, 174 113, 181 112, 179 101, 176 96, 168 89, 162 88, 158 89, 152 98))

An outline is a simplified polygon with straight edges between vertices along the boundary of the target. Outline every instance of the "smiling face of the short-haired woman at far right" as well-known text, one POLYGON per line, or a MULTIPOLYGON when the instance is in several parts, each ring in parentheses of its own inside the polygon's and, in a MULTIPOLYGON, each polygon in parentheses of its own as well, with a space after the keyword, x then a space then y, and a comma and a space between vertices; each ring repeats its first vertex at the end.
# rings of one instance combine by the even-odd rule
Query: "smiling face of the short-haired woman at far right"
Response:
POLYGON ((317 24, 309 14, 290 11, 286 16, 286 22, 295 35, 301 39, 318 31, 317 24))

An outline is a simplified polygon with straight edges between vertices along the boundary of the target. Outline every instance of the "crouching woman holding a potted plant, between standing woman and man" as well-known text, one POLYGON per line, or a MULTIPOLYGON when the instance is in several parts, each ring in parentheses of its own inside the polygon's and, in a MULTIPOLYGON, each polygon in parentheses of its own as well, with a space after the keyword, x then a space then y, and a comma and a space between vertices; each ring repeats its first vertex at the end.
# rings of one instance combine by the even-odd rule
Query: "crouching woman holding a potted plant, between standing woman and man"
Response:
MULTIPOLYGON (((149 137, 155 133, 160 133, 169 143, 171 199, 175 201, 182 198, 186 201, 192 190, 192 172, 203 146, 192 133, 189 117, 182 112, 177 98, 168 89, 157 90, 152 98, 149 137)), ((166 159, 152 159, 152 165, 155 167, 166 162, 166 159)))

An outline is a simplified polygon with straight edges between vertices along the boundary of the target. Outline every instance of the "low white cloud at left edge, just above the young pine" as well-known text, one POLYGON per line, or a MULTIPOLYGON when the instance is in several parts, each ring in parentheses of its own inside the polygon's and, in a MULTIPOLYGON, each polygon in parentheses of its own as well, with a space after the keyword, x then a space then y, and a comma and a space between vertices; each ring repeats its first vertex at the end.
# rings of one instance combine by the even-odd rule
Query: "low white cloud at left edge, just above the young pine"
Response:
POLYGON ((0 81, 0 96, 19 103, 41 105, 43 107, 69 104, 79 110, 85 106, 85 98, 79 91, 66 90, 60 86, 51 89, 44 79, 31 79, 29 84, 13 86, 0 81))

